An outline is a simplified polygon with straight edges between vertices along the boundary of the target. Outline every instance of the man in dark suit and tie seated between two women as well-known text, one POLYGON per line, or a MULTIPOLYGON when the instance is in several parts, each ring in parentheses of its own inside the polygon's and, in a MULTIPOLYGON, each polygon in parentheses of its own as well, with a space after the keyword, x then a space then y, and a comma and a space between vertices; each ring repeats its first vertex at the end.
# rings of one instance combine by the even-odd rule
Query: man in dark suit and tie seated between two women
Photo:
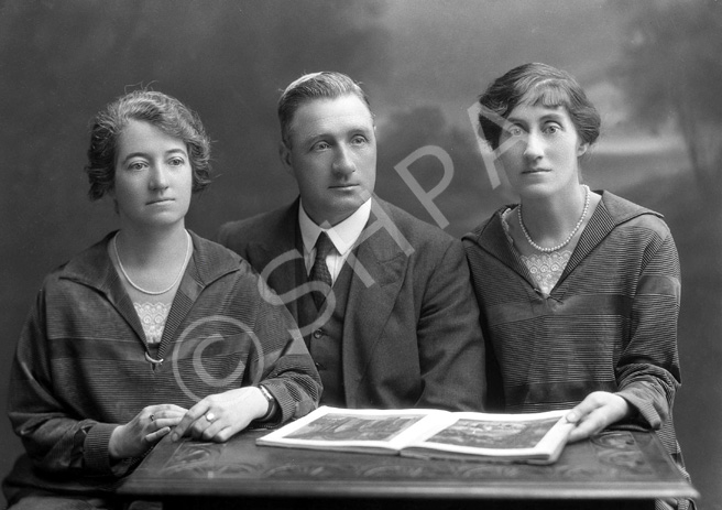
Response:
POLYGON ((281 160, 300 196, 223 225, 219 240, 298 322, 321 403, 481 411, 483 339, 463 249, 373 196, 375 127, 363 90, 340 73, 303 76, 278 100, 278 119, 281 160))

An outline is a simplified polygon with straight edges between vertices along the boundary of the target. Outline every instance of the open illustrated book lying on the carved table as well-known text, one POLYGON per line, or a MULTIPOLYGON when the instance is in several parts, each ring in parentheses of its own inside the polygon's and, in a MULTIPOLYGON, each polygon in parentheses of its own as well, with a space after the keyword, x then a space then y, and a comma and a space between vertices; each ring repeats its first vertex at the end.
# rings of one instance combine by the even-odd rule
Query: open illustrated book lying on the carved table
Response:
POLYGON ((259 445, 403 455, 417 458, 551 464, 573 424, 568 411, 486 414, 439 410, 321 406, 259 445))

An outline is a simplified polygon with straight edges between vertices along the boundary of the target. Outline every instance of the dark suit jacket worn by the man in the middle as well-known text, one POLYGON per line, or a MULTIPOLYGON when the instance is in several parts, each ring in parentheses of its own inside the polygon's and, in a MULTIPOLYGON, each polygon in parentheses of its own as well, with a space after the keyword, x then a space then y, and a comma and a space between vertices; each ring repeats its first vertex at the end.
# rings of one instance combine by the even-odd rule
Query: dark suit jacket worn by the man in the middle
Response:
MULTIPOLYGON (((481 411, 484 343, 461 242, 373 199, 375 208, 367 229, 379 218, 374 210, 379 213, 380 206, 381 216, 387 215, 386 220, 413 250, 397 242, 400 238, 387 228, 365 240, 362 234, 354 248, 373 283, 367 286, 354 271, 342 335, 347 406, 481 411)), ((223 225, 219 241, 260 273, 273 263, 266 280, 283 296, 302 281, 297 271, 305 271, 303 253, 296 248, 298 229, 296 199, 289 206, 223 225), (278 265, 278 257, 291 253, 295 260, 278 265)), ((296 302, 286 306, 298 319, 296 302)))

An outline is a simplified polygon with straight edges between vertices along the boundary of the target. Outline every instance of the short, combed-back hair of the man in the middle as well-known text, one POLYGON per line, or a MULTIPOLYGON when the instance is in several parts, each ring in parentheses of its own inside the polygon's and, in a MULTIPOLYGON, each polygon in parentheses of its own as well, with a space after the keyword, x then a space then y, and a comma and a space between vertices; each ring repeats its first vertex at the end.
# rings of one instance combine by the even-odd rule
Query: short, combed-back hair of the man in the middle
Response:
POLYGON ((342 73, 335 70, 309 73, 292 82, 278 98, 278 121, 283 143, 291 149, 291 123, 296 110, 303 104, 314 99, 336 99, 347 95, 363 100, 373 116, 367 94, 358 83, 342 73))

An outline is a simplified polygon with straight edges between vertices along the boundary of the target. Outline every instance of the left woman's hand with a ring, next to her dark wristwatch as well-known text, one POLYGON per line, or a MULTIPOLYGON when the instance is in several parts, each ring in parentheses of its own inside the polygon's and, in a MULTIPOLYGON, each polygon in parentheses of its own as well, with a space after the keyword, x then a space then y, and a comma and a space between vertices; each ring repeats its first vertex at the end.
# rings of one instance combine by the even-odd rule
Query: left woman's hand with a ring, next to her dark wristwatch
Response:
POLYGON ((184 435, 194 440, 222 443, 262 417, 269 410, 269 401, 255 387, 238 388, 206 397, 190 408, 175 431, 173 441, 184 435))

